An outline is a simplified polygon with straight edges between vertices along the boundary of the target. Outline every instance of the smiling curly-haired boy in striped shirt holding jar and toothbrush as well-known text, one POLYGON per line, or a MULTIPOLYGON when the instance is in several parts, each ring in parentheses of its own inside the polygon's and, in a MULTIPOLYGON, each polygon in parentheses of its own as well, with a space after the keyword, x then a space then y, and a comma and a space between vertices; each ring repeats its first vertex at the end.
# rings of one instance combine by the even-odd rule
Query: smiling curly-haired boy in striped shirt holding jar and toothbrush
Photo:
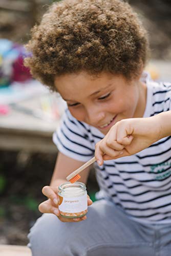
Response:
MULTIPOLYGON (((33 28, 28 49, 33 76, 68 104, 53 136, 59 154, 51 184, 42 189, 49 198, 39 205, 45 214, 29 234, 33 256, 169 255, 170 137, 115 161, 125 142, 114 138, 109 148, 105 142, 119 121, 171 109, 169 87, 142 73, 148 41, 136 14, 119 0, 55 3, 33 28), (62 218, 58 186, 94 154, 102 164, 102 152, 112 159, 95 164, 101 200, 88 198, 88 219, 62 218)), ((81 173, 83 183, 89 170, 81 173)))

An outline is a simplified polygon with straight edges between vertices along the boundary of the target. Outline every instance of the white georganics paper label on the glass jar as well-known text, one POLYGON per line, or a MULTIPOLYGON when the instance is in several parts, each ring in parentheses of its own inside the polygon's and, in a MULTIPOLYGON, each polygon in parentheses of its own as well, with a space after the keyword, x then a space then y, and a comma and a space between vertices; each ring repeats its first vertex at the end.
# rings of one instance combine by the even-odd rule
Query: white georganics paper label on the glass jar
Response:
POLYGON ((87 210, 87 193, 81 197, 61 197, 59 196, 59 206, 60 211, 69 212, 74 214, 83 210, 87 210))

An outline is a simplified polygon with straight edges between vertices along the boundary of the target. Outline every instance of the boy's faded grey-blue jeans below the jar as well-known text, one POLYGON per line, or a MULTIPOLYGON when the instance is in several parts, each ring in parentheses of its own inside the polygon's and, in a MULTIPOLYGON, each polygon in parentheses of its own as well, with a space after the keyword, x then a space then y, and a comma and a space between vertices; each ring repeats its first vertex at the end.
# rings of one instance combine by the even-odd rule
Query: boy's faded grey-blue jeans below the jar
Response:
POLYGON ((87 220, 42 215, 28 235, 33 256, 170 256, 171 224, 142 224, 112 202, 89 206, 87 220))

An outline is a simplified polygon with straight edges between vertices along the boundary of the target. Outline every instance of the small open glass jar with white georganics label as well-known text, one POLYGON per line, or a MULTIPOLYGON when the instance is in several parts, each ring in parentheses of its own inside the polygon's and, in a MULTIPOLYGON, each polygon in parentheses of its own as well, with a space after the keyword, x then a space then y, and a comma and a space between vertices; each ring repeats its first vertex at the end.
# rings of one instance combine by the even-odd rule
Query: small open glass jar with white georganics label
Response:
POLYGON ((86 185, 66 182, 58 188, 59 212, 65 218, 80 218, 88 212, 86 185))

